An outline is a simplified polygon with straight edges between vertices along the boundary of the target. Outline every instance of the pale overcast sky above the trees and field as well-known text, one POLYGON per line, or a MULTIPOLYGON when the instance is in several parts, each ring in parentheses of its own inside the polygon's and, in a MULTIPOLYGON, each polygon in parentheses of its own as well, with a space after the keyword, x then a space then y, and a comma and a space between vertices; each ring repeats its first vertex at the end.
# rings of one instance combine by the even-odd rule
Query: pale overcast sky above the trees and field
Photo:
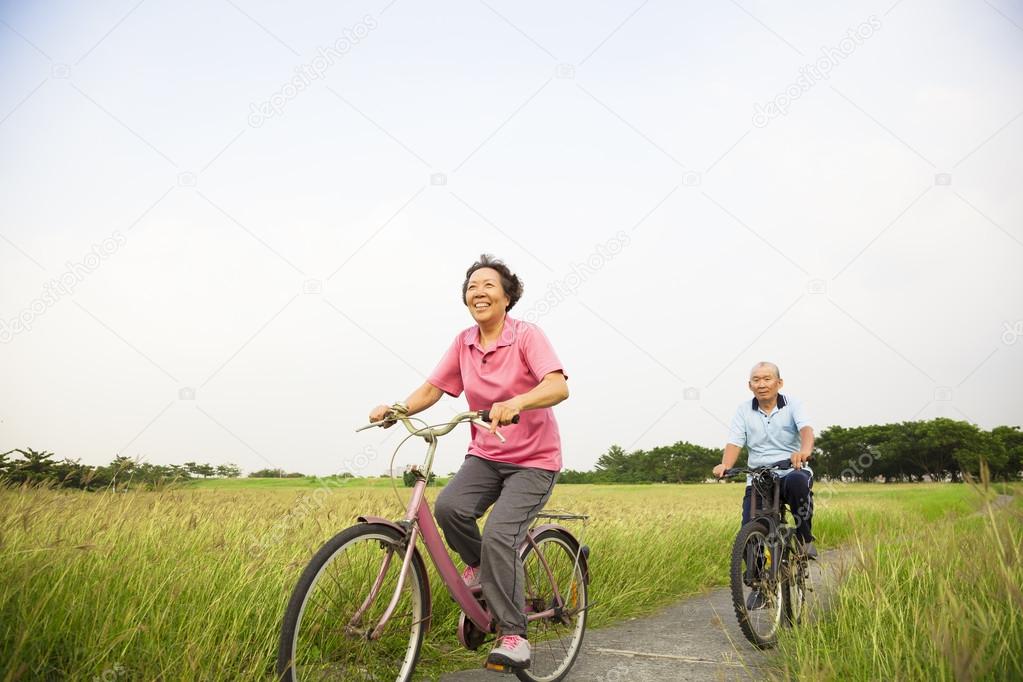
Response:
POLYGON ((0 4, 0 451, 376 474, 481 252, 567 467, 1023 421, 1019 2, 339 4, 0 4))

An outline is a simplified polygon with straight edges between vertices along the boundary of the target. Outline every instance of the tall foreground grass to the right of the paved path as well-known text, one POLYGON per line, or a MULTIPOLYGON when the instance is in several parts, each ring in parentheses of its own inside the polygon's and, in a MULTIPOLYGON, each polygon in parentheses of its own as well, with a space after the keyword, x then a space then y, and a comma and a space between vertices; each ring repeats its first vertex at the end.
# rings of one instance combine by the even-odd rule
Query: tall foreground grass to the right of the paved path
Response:
POLYGON ((1023 680, 1023 508, 856 533, 829 608, 783 635, 792 680, 1023 680))

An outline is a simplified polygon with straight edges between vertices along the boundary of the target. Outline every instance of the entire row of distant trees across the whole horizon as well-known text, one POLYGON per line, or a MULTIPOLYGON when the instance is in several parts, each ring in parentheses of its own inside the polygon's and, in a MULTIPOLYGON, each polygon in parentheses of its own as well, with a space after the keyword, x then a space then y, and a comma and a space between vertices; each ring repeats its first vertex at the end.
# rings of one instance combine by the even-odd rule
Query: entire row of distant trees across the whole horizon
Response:
MULTIPOLYGON (((743 448, 739 462, 747 461, 743 448)), ((830 426, 817 435, 810 465, 817 478, 843 481, 962 481, 978 475, 987 462, 992 479, 1023 479, 1023 431, 1019 426, 984 430, 967 421, 938 418, 868 426, 830 426)), ((626 452, 613 445, 591 471, 566 469, 563 484, 700 483, 721 461, 719 448, 686 441, 626 452)), ((52 485, 82 490, 158 488, 195 479, 241 475, 234 464, 198 462, 150 464, 118 456, 105 466, 55 460, 52 452, 31 448, 0 454, 0 485, 52 485)), ((253 471, 250 478, 301 478, 279 468, 253 471)), ((406 472, 405 484, 409 485, 406 472)))

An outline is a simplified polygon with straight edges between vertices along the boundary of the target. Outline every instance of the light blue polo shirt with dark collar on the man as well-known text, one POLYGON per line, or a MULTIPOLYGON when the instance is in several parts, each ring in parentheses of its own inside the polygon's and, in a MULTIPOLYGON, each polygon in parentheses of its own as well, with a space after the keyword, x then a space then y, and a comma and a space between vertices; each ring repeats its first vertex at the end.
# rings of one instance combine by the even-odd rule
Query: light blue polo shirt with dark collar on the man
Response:
MULTIPOLYGON (((764 466, 780 459, 789 459, 792 453, 798 452, 802 445, 799 429, 809 425, 810 419, 801 400, 779 394, 777 404, 768 414, 760 409, 754 398, 744 401, 736 410, 728 427, 728 443, 740 448, 745 445, 750 449, 749 466, 764 466)), ((806 464, 803 468, 813 473, 806 464)), ((783 469, 777 473, 784 476, 794 470, 783 469)), ((750 485, 749 480, 746 485, 750 485)))

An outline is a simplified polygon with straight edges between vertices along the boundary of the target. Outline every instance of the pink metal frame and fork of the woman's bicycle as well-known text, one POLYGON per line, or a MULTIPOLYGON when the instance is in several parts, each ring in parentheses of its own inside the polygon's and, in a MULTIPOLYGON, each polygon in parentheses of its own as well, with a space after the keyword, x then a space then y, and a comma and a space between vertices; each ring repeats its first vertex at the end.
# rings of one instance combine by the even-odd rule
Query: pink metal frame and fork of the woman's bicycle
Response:
MULTIPOLYGON (((462 415, 463 416, 463 415, 462 415)), ((406 424, 408 426, 408 424, 406 424)), ((401 598, 401 590, 405 585, 405 580, 408 576, 409 566, 412 562, 412 556, 416 552, 417 541, 421 538, 424 544, 427 546, 427 553, 434 562, 434 566, 437 569, 437 573, 440 574, 441 580, 444 586, 447 588, 448 593, 457 602, 458 606, 461 608, 462 612, 479 628, 481 631, 486 633, 493 633, 494 626, 490 613, 486 611, 477 601, 474 596, 473 590, 465 585, 464 581, 461 579, 461 575, 455 567, 454 562, 448 555, 447 548, 444 544, 444 540, 441 538, 440 531, 437 529, 437 521, 434 520, 433 512, 430 509, 430 503, 426 498, 427 482, 429 479, 430 469, 433 467, 434 455, 437 450, 438 437, 441 435, 435 433, 432 428, 427 429, 414 429, 408 426, 409 431, 413 435, 422 436, 427 442, 430 444, 427 452, 427 465, 426 472, 419 470, 418 468, 413 468, 412 472, 415 474, 415 485, 412 488, 412 497, 408 502, 408 507, 405 510, 405 517, 402 521, 395 522, 391 519, 384 518, 381 516, 359 516, 359 520, 363 522, 370 524, 384 524, 395 528, 400 531, 405 537, 405 548, 404 556, 402 559, 401 573, 398 576, 398 582, 395 586, 394 595, 391 597, 391 601, 388 607, 385 609, 384 615, 381 617, 380 623, 370 633, 370 639, 379 639, 384 633, 384 629, 387 626, 388 621, 394 613, 394 609, 398 605, 398 601, 401 598)), ((546 530, 549 528, 558 528, 565 533, 568 531, 560 526, 546 525, 540 527, 541 530, 546 530)), ((533 540, 533 532, 526 535, 526 544, 533 548, 536 552, 537 557, 540 560, 540 564, 543 566, 546 573, 547 579, 550 581, 550 585, 553 589, 554 602, 561 604, 562 596, 558 592, 558 585, 551 574, 550 566, 547 565, 546 558, 541 552, 539 552, 535 541, 533 540)), ((362 615, 369 608, 369 606, 380 597, 380 589, 384 583, 385 577, 391 565, 391 554, 388 554, 384 559, 381 571, 376 576, 376 580, 373 583, 373 587, 370 590, 369 595, 366 597, 362 606, 355 612, 355 616, 350 621, 349 625, 355 625, 362 615)), ((583 561, 581 556, 581 546, 577 548, 576 561, 583 561)), ((585 565, 583 565, 584 572, 587 572, 585 565)), ((587 572, 588 573, 588 572, 587 572)), ((586 575, 586 573, 584 573, 586 575)), ((430 620, 432 617, 432 605, 430 601, 430 590, 429 584, 427 589, 427 600, 426 604, 426 615, 424 620, 427 622, 427 627, 430 627, 430 620)), ((558 613, 560 607, 547 608, 535 613, 527 613, 528 621, 534 621, 537 619, 551 618, 558 613)))

